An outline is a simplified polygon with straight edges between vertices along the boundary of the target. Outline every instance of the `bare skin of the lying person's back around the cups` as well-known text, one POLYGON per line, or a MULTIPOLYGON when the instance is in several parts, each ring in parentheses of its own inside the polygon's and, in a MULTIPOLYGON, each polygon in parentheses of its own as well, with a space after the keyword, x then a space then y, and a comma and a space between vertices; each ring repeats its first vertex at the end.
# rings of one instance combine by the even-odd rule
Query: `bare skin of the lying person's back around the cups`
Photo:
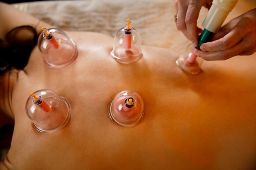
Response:
MULTIPOLYGON (((38 23, 0 7, 27 18, 18 25, 38 23)), ((40 22, 39 31, 41 26, 50 27, 40 22)), ((172 50, 142 46, 141 60, 120 64, 110 55, 112 37, 65 32, 79 50, 71 64, 50 68, 35 47, 24 70, 1 76, 0 118, 6 120, 2 124, 15 121, 15 127, 0 169, 256 168, 255 57, 205 62, 200 74, 188 75, 175 65, 179 54, 172 50), (68 124, 50 134, 33 128, 25 112, 30 92, 45 88, 72 107, 68 124), (123 90, 136 91, 144 100, 144 117, 131 128, 118 126, 108 115, 110 100, 123 90)))

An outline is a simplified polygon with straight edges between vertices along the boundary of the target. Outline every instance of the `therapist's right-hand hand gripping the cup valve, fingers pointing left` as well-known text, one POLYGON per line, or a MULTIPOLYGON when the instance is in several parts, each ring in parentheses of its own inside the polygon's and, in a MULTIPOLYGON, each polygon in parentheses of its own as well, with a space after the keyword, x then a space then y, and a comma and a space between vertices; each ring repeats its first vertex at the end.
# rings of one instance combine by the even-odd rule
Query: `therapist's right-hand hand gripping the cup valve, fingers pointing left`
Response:
POLYGON ((236 55, 256 52, 256 9, 234 18, 203 43, 195 52, 204 60, 227 60, 236 55))

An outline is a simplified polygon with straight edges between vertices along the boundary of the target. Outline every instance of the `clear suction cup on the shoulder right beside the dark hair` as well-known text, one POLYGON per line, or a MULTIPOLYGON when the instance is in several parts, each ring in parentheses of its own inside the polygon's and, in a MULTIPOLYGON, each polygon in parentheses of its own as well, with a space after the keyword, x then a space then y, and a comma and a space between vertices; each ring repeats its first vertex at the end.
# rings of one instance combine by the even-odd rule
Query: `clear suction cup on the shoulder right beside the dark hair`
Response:
POLYGON ((77 56, 76 43, 61 29, 42 28, 38 38, 38 48, 51 67, 61 68, 70 64, 77 56))

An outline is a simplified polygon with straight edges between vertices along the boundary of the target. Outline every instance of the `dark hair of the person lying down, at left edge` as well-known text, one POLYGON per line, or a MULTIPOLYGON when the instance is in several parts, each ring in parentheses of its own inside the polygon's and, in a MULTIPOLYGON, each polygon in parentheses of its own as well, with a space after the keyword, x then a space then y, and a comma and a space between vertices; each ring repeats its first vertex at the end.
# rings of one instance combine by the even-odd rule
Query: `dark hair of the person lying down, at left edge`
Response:
POLYGON ((27 65, 38 35, 34 27, 24 25, 9 31, 5 40, 0 39, 0 74, 10 68, 23 69, 27 65))

